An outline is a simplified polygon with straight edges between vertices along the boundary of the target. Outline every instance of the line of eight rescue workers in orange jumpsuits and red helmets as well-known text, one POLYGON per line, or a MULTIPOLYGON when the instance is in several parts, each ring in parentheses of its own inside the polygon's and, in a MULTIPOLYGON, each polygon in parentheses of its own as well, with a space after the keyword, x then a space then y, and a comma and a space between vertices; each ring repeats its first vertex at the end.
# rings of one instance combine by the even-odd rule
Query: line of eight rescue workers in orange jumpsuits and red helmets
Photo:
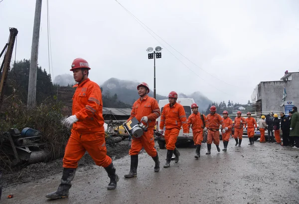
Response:
MULTIPOLYGON (((89 64, 82 58, 77 58, 73 61, 70 71, 77 84, 75 94, 73 96, 72 116, 67 117, 63 124, 71 127, 71 136, 65 148, 63 158, 63 172, 61 183, 55 192, 46 195, 48 199, 65 198, 69 195, 72 180, 74 179, 78 161, 87 151, 95 164, 104 167, 110 183, 108 190, 116 189, 119 176, 116 174, 116 169, 112 160, 107 156, 107 149, 105 143, 104 118, 103 118, 103 103, 102 94, 99 85, 92 82, 88 78, 89 64)), ((234 126, 234 138, 236 146, 241 146, 243 127, 247 124, 247 132, 250 144, 254 143, 254 132, 257 129, 256 120, 247 113, 247 118, 241 116, 241 112, 237 112, 237 117, 233 121, 228 117, 228 112, 223 111, 223 118, 216 113, 216 107, 211 106, 210 114, 205 116, 198 111, 198 105, 193 103, 191 105, 193 113, 186 118, 183 106, 176 102, 178 95, 172 91, 168 95, 169 103, 163 107, 162 113, 155 99, 148 96, 149 85, 141 83, 137 86, 140 98, 134 102, 130 118, 137 118, 139 121, 148 123, 148 131, 144 132, 143 136, 139 138, 132 138, 131 149, 129 154, 131 156, 130 171, 125 178, 132 178, 137 176, 138 155, 142 148, 146 150, 149 156, 154 161, 154 172, 159 172, 160 161, 157 151, 154 147, 154 126, 156 119, 161 116, 159 133, 164 133, 167 156, 164 168, 170 167, 171 157, 175 155, 175 163, 178 162, 180 153, 175 147, 177 136, 181 127, 183 128, 183 136, 188 137, 189 129, 192 128, 193 140, 196 146, 195 158, 200 157, 200 147, 203 141, 203 133, 207 134, 207 153, 211 154, 211 144, 214 142, 217 151, 219 148, 219 127, 222 126, 222 139, 224 144, 223 151, 227 150, 229 138, 234 126), (165 127, 165 132, 163 129, 165 127)))

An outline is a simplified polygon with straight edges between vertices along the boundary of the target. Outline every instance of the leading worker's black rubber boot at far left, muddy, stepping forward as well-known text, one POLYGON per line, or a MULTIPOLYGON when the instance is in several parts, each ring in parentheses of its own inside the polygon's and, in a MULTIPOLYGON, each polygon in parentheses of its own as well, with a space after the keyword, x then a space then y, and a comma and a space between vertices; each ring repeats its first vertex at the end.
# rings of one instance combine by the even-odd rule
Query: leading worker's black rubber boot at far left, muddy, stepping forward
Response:
POLYGON ((46 195, 48 199, 63 199, 69 196, 69 189, 72 187, 71 181, 75 177, 76 169, 63 168, 61 183, 58 186, 57 191, 46 195))

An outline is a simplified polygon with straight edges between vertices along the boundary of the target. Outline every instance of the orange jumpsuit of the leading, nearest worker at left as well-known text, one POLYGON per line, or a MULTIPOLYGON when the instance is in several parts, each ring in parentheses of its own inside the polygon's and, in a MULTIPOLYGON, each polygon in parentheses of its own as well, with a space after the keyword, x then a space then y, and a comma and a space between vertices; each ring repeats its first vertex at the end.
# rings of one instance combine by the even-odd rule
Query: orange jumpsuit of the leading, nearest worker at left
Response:
POLYGON ((108 167, 112 160, 107 156, 103 118, 103 102, 99 85, 86 79, 73 96, 72 114, 78 121, 73 124, 65 147, 63 168, 77 168, 85 151, 96 165, 108 167))

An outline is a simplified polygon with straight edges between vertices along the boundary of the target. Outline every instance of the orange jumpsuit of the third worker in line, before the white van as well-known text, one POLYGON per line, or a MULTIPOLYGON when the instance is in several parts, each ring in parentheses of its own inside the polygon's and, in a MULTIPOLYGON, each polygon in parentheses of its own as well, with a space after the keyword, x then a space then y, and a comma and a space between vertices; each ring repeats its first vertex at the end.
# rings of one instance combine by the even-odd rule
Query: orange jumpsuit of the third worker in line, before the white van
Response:
POLYGON ((164 138, 167 150, 174 150, 177 136, 183 126, 183 133, 188 133, 187 117, 184 107, 179 103, 164 105, 160 120, 160 129, 165 125, 164 138))

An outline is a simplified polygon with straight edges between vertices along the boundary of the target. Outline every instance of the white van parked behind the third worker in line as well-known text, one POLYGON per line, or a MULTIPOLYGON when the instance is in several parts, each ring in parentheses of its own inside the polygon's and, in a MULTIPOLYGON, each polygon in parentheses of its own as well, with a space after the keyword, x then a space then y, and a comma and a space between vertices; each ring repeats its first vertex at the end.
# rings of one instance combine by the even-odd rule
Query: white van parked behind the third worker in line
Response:
MULTIPOLYGON (((194 100, 193 99, 177 99, 176 102, 181 104, 184 107, 186 117, 188 119, 189 115, 192 113, 191 104, 194 103, 194 100)), ((167 103, 169 103, 168 99, 159 101, 159 108, 161 110, 161 114, 162 114, 164 105, 166 105, 167 103)), ((161 120, 161 117, 158 117, 158 119, 157 119, 157 129, 159 129, 160 120, 161 120)), ((165 127, 163 129, 165 131, 165 127)), ((159 144, 159 148, 164 149, 165 148, 165 139, 164 139, 164 137, 158 137, 157 141, 158 141, 158 144, 159 144)), ((177 141, 178 142, 181 142, 181 141, 182 142, 193 142, 192 129, 190 128, 189 137, 183 137, 183 129, 181 128, 181 130, 179 131, 178 137, 177 137, 177 141)))

